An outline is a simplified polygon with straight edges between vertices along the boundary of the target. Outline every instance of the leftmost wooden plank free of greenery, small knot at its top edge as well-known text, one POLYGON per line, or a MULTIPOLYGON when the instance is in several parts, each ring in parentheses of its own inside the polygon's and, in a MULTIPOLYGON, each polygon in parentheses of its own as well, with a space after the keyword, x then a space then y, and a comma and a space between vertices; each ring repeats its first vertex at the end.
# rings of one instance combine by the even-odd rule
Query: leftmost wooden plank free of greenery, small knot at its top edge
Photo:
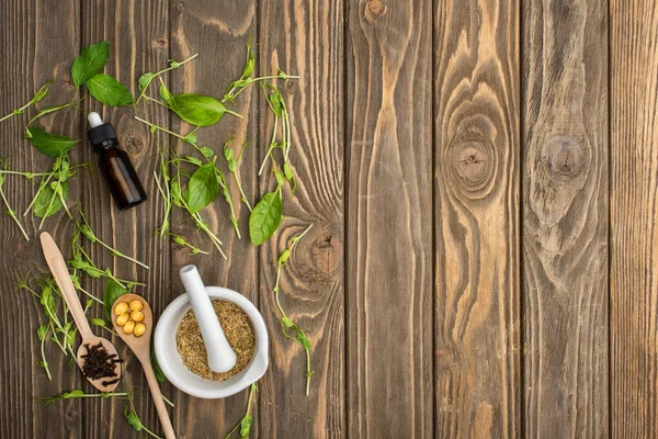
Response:
POLYGON ((348 431, 431 437, 432 2, 348 16, 348 431))

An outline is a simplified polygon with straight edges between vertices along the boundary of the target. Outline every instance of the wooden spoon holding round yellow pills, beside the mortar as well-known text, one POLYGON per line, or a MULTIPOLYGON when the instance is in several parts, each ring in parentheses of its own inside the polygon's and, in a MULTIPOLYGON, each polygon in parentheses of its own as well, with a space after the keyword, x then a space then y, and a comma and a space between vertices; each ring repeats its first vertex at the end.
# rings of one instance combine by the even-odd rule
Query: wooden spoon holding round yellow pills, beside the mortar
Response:
POLYGON ((114 329, 121 339, 128 345, 128 348, 131 348, 133 352, 135 352, 135 357, 137 357, 141 363, 141 368, 144 368, 146 382, 148 383, 148 389, 154 397, 154 403, 156 404, 156 409, 158 410, 158 417, 160 418, 164 437, 167 439, 175 439, 173 427, 171 426, 171 419, 169 419, 169 414, 167 413, 167 407, 164 406, 164 399, 162 399, 162 392, 160 391, 158 380, 156 380, 156 374, 154 373, 154 368, 151 367, 150 362, 150 336, 154 328, 154 315, 150 311, 150 306, 148 306, 148 302, 137 294, 122 295, 116 300, 116 302, 114 302, 114 305, 112 305, 112 325, 114 326, 114 329), (135 300, 144 304, 144 308, 141 309, 141 314, 144 314, 144 320, 141 323, 146 325, 146 331, 139 337, 135 337, 133 334, 124 333, 123 327, 116 324, 116 318, 118 316, 114 312, 114 308, 120 303, 131 303, 135 300))

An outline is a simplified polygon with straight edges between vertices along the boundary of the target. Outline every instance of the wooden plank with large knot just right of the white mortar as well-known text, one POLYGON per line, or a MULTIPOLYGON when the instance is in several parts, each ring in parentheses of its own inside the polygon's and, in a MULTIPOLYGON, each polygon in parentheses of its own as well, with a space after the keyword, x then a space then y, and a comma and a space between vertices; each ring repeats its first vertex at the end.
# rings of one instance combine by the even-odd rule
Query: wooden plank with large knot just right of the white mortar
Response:
MULTIPOLYGON (((261 384, 259 431, 266 438, 343 437, 343 2, 264 0, 259 4, 259 75, 281 68, 299 80, 280 83, 292 114, 291 164, 299 180, 296 196, 284 191, 284 215, 275 237, 260 252, 261 309, 271 340, 270 370, 261 384), (282 272, 281 302, 311 345, 310 394, 305 395, 304 350, 280 329, 272 289, 279 254, 309 223, 282 272)), ((273 117, 260 94, 261 139, 271 137, 273 117)), ((266 150, 259 142, 259 158, 266 150)), ((272 190, 261 178, 261 193, 272 190)))

